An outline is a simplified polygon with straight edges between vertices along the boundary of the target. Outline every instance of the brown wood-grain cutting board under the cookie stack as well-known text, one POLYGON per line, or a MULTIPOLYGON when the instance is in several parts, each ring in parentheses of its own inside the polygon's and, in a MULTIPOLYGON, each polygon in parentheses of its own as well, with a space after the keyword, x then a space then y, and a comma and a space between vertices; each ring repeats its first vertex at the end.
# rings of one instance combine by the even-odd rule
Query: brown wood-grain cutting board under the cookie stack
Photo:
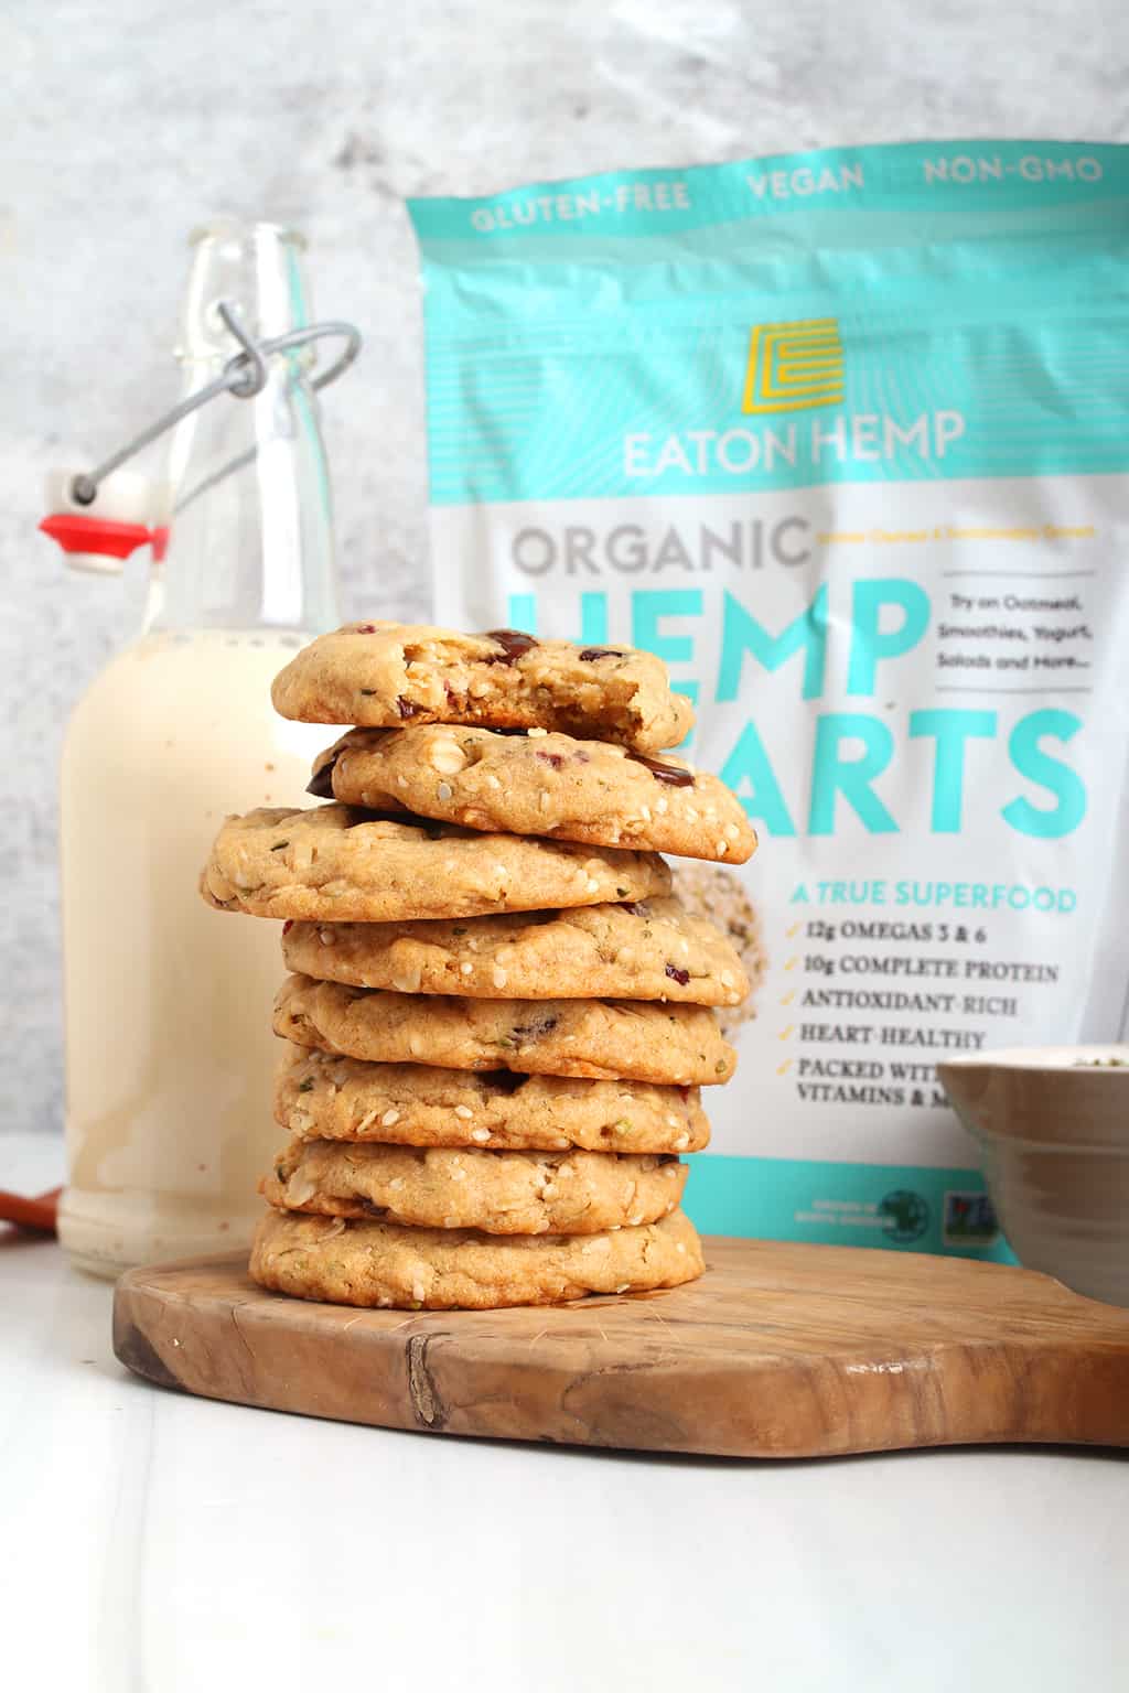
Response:
POLYGON ((1129 1310, 916 1253, 706 1239, 691 1287, 520 1310, 354 1310, 242 1260, 130 1270, 113 1348, 208 1398, 428 1434, 807 1458, 1129 1444, 1129 1310))

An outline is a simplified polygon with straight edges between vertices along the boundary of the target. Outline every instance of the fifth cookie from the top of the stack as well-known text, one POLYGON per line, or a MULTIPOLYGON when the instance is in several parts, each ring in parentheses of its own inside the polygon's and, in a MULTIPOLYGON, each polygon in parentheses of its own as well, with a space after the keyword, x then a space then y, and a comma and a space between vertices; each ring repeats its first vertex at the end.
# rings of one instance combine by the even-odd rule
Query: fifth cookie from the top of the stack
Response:
POLYGON ((728 1082, 736 1053, 702 1006, 623 999, 423 999, 291 975, 274 1033, 376 1063, 667 1085, 728 1082))

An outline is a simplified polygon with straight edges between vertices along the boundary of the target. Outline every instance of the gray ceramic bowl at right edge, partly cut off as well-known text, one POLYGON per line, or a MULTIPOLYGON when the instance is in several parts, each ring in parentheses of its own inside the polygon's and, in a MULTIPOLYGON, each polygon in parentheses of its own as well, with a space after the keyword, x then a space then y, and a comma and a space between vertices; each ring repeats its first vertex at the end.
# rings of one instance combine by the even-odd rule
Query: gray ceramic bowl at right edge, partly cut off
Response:
POLYGON ((938 1075, 1019 1261, 1129 1305, 1129 1046, 1014 1046, 938 1075))

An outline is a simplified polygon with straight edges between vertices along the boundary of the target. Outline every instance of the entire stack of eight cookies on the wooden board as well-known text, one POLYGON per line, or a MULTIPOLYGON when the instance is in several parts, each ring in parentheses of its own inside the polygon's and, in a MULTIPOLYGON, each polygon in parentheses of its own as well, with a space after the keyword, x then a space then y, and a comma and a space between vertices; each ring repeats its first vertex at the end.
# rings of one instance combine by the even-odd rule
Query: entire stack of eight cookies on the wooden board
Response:
POLYGON ((702 1271, 680 1153, 748 982, 660 852, 740 863, 733 794, 657 757, 692 723, 650 653, 354 623, 274 704, 352 725, 327 804, 229 818, 203 875, 293 972, 251 1273, 305 1299, 550 1304, 702 1271))

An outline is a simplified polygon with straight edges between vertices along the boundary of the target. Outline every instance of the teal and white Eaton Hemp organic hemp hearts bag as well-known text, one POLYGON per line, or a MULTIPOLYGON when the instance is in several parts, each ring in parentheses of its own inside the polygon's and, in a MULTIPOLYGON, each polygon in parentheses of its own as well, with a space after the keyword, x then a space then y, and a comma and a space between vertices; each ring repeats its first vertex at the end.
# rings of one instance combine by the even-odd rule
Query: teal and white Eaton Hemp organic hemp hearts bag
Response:
POLYGON ((760 833, 708 1229, 1002 1256, 934 1063, 1115 1040, 1129 147, 421 200, 435 620, 658 653, 760 833))

